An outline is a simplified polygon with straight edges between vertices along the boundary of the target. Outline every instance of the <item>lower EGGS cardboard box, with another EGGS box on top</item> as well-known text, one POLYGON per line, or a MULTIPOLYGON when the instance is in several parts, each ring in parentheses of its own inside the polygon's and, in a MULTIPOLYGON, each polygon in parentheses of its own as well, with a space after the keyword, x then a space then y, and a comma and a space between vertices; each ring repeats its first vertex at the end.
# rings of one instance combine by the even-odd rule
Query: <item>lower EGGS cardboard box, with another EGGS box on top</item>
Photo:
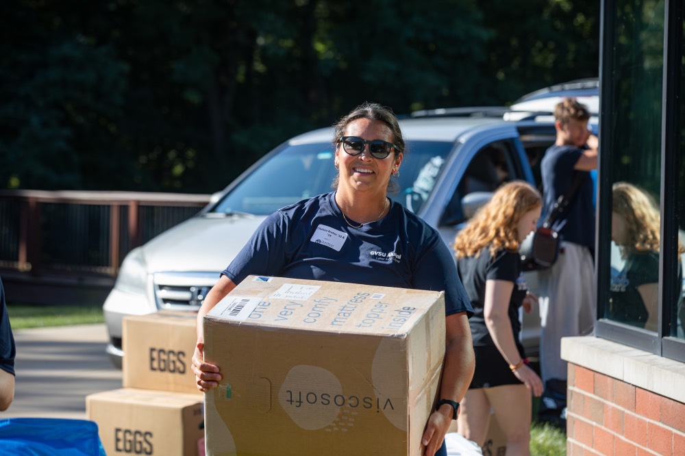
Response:
POLYGON ((121 388, 86 396, 86 416, 109 456, 197 456, 202 407, 197 394, 121 388))

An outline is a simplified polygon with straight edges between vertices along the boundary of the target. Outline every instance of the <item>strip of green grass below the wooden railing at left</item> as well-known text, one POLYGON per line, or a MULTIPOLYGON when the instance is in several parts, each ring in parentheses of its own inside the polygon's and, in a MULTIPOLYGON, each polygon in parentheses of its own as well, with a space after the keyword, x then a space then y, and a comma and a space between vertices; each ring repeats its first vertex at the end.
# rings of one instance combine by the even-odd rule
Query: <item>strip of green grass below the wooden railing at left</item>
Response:
POLYGON ((8 303, 12 330, 65 325, 88 325, 105 321, 102 305, 28 305, 8 303))

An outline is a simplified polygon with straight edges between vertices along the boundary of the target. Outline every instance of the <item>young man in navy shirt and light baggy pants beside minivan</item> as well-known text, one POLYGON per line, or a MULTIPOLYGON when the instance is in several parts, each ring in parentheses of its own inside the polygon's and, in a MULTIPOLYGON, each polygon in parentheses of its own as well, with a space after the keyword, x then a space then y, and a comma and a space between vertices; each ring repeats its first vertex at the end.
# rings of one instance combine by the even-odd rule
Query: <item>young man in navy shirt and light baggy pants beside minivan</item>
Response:
POLYGON ((554 110, 556 142, 540 162, 543 178, 543 216, 571 188, 578 173, 580 187, 556 220, 562 253, 540 274, 540 370, 545 381, 542 409, 559 411, 566 405, 566 362, 561 338, 590 333, 595 320, 595 207, 590 170, 597 168, 599 140, 588 129, 588 108, 564 99, 554 110), (556 392, 556 394, 555 394, 556 392))

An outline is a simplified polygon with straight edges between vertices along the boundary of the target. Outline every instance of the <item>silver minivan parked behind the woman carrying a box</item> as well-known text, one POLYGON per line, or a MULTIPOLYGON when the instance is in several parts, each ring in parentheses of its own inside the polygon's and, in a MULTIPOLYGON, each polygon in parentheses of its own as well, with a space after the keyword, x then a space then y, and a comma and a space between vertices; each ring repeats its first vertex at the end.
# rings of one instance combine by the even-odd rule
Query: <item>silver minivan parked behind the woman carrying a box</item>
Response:
MULTIPOLYGON (((539 160, 555 139, 551 121, 505 121, 501 112, 460 110, 456 116, 402 118, 407 149, 394 199, 436 227, 450 246, 475 209, 501 183, 536 184, 539 160)), ((265 155, 197 216, 164 231, 125 257, 103 310, 115 365, 123 356, 122 320, 160 309, 196 311, 219 273, 264 218, 279 207, 330 192, 332 129, 296 136, 265 155)), ((527 273, 534 290, 536 273, 527 273)), ((530 355, 539 340, 536 311, 523 316, 530 355)))

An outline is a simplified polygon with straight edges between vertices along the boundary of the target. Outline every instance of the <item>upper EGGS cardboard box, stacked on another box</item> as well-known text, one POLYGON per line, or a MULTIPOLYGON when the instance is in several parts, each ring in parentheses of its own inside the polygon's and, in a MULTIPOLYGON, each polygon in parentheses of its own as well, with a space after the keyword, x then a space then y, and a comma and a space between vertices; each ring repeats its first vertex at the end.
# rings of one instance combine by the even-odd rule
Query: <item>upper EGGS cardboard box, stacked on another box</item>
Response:
POLYGON ((123 320, 123 387, 201 392, 192 373, 196 312, 160 311, 123 320))

